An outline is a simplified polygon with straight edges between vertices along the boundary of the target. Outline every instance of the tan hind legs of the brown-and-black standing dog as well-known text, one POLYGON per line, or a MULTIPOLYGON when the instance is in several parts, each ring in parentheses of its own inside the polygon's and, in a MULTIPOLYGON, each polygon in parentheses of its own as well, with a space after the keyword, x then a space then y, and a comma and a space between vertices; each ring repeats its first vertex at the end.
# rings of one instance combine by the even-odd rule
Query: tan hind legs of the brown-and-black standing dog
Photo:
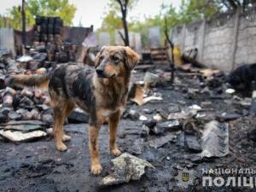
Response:
POLYGON ((68 100, 57 100, 52 99, 51 100, 51 108, 53 109, 54 113, 54 119, 55 119, 55 125, 53 128, 54 136, 55 136, 55 144, 56 148, 59 151, 65 151, 67 150, 67 147, 62 141, 69 141, 71 137, 68 137, 64 134, 63 131, 63 124, 65 119, 67 118, 67 115, 72 112, 71 102, 68 100))

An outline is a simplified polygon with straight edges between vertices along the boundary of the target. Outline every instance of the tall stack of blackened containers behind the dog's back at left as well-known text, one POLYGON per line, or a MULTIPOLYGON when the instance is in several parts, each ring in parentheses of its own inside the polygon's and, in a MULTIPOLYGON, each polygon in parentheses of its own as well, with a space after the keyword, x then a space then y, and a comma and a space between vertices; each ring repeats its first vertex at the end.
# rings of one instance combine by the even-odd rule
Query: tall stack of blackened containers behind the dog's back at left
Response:
POLYGON ((28 74, 34 73, 38 68, 49 68, 57 63, 76 61, 78 44, 63 42, 63 20, 60 17, 37 16, 34 26, 33 45, 27 46, 26 56, 22 56, 18 61, 20 66, 28 74))

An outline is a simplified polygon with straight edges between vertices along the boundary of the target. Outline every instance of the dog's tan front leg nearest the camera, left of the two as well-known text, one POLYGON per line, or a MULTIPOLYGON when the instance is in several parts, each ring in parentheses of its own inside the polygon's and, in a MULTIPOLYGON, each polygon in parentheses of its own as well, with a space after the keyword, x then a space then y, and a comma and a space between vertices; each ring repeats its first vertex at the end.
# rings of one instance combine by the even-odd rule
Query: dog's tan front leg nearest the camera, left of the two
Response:
POLYGON ((102 166, 99 159, 98 138, 101 125, 89 126, 89 145, 90 145, 90 172, 93 174, 99 174, 102 172, 102 166))

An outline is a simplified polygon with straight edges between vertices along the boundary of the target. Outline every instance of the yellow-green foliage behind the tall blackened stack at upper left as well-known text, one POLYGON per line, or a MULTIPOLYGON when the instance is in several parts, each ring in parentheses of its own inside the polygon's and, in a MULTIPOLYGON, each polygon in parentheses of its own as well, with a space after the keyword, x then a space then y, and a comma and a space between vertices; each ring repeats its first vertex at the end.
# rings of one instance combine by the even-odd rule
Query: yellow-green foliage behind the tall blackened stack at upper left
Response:
MULTIPOLYGON (((14 6, 7 16, 9 26, 18 29, 22 27, 20 7, 21 5, 14 6)), ((36 15, 59 16, 64 21, 65 26, 71 26, 76 10, 76 7, 68 3, 68 0, 26 0, 26 26, 35 24, 36 15)), ((0 24, 3 22, 1 20, 0 24)))

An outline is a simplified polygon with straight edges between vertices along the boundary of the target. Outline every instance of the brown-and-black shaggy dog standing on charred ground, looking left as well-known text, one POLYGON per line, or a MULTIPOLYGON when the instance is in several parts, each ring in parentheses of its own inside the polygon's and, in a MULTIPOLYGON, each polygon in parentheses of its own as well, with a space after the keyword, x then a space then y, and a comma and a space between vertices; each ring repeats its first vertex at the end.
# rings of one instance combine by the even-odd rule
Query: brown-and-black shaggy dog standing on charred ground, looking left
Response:
POLYGON ((96 55, 94 73, 79 65, 61 64, 47 73, 11 76, 6 84, 48 88, 55 119, 55 144, 60 151, 67 149, 63 142, 71 139, 65 135, 63 123, 75 104, 89 113, 91 172, 99 174, 102 172, 98 150, 101 125, 105 119, 109 119, 110 153, 119 155, 120 151, 115 145, 116 132, 130 90, 131 70, 138 60, 139 55, 128 47, 104 46, 96 55))

